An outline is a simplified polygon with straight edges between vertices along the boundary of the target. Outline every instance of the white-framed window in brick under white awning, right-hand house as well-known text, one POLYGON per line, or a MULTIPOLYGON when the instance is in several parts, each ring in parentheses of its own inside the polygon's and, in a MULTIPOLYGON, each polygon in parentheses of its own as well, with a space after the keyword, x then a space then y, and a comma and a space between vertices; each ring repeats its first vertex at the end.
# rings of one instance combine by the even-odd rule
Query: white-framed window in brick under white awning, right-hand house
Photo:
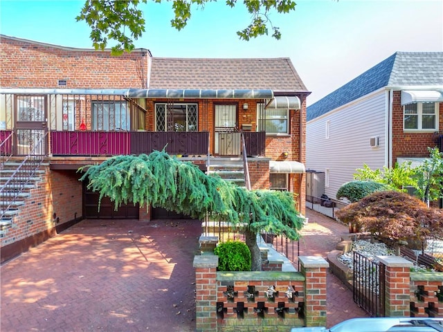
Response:
POLYGON ((404 105, 404 129, 435 131, 438 128, 438 103, 416 102, 404 105))

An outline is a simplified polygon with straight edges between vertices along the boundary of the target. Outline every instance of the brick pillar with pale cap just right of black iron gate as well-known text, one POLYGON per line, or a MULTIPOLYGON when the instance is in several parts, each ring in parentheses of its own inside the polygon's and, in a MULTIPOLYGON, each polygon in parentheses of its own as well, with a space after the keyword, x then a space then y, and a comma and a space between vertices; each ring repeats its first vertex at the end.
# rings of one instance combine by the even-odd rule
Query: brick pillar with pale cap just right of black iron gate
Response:
POLYGON ((413 264, 398 256, 377 257, 385 270, 386 317, 410 316, 410 267, 413 264))

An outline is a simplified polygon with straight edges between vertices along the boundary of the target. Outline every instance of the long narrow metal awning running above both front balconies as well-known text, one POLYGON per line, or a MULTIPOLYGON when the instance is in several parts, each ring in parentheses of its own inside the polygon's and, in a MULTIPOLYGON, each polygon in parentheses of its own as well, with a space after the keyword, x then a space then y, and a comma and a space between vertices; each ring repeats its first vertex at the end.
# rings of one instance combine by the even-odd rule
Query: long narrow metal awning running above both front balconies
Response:
POLYGON ((34 89, 0 88, 0 93, 60 95, 123 95, 128 98, 270 99, 270 89, 34 89))

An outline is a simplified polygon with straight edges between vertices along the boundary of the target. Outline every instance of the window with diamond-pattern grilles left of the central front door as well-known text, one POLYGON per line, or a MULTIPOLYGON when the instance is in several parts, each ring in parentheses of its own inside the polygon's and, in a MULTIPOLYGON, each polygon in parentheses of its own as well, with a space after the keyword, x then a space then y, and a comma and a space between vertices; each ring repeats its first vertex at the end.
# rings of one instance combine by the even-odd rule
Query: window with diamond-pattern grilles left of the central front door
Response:
POLYGON ((156 131, 198 131, 197 104, 156 104, 156 131))

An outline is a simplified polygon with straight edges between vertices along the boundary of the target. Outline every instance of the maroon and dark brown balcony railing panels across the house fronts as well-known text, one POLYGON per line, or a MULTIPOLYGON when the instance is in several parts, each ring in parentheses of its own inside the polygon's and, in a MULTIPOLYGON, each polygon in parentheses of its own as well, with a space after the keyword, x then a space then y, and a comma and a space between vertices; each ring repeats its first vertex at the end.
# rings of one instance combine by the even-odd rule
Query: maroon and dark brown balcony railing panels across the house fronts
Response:
MULTIPOLYGON (((13 131, 0 130, 0 153, 19 154, 11 139, 13 131)), ((247 156, 265 156, 264 132, 243 132, 247 156)), ((116 156, 150 154, 165 148, 168 154, 206 156, 209 132, 173 131, 51 131, 49 153, 53 156, 116 156)), ((46 152, 47 153, 47 152, 46 152)))

